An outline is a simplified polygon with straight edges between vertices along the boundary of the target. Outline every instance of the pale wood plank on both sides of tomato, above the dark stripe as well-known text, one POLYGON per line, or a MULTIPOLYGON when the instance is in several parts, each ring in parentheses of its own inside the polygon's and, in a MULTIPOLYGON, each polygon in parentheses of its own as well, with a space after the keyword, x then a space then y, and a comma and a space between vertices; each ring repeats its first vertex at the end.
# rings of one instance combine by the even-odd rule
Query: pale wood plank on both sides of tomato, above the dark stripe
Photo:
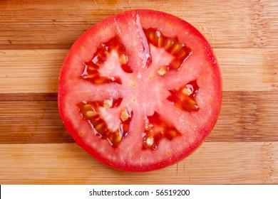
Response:
MULTIPOLYGON (((68 50, 0 50, 0 93, 57 92, 68 50)), ((224 91, 278 90, 278 48, 216 48, 224 91)))

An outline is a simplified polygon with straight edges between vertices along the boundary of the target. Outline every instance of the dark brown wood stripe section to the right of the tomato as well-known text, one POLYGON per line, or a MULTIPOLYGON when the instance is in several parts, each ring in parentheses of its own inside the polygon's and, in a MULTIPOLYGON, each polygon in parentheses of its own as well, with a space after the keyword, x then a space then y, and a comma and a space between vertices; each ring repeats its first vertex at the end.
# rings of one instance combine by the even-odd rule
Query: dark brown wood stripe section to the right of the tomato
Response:
POLYGON ((278 93, 224 92, 222 109, 207 141, 278 141, 278 93))

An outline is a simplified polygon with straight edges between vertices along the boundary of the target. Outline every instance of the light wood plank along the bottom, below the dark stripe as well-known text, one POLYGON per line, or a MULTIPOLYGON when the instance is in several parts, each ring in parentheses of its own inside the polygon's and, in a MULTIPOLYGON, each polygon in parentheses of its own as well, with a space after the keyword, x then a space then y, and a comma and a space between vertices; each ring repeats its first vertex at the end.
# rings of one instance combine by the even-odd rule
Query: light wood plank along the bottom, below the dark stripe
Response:
POLYGON ((278 142, 204 143, 147 173, 115 171, 76 144, 0 144, 1 184, 278 184, 278 142))

